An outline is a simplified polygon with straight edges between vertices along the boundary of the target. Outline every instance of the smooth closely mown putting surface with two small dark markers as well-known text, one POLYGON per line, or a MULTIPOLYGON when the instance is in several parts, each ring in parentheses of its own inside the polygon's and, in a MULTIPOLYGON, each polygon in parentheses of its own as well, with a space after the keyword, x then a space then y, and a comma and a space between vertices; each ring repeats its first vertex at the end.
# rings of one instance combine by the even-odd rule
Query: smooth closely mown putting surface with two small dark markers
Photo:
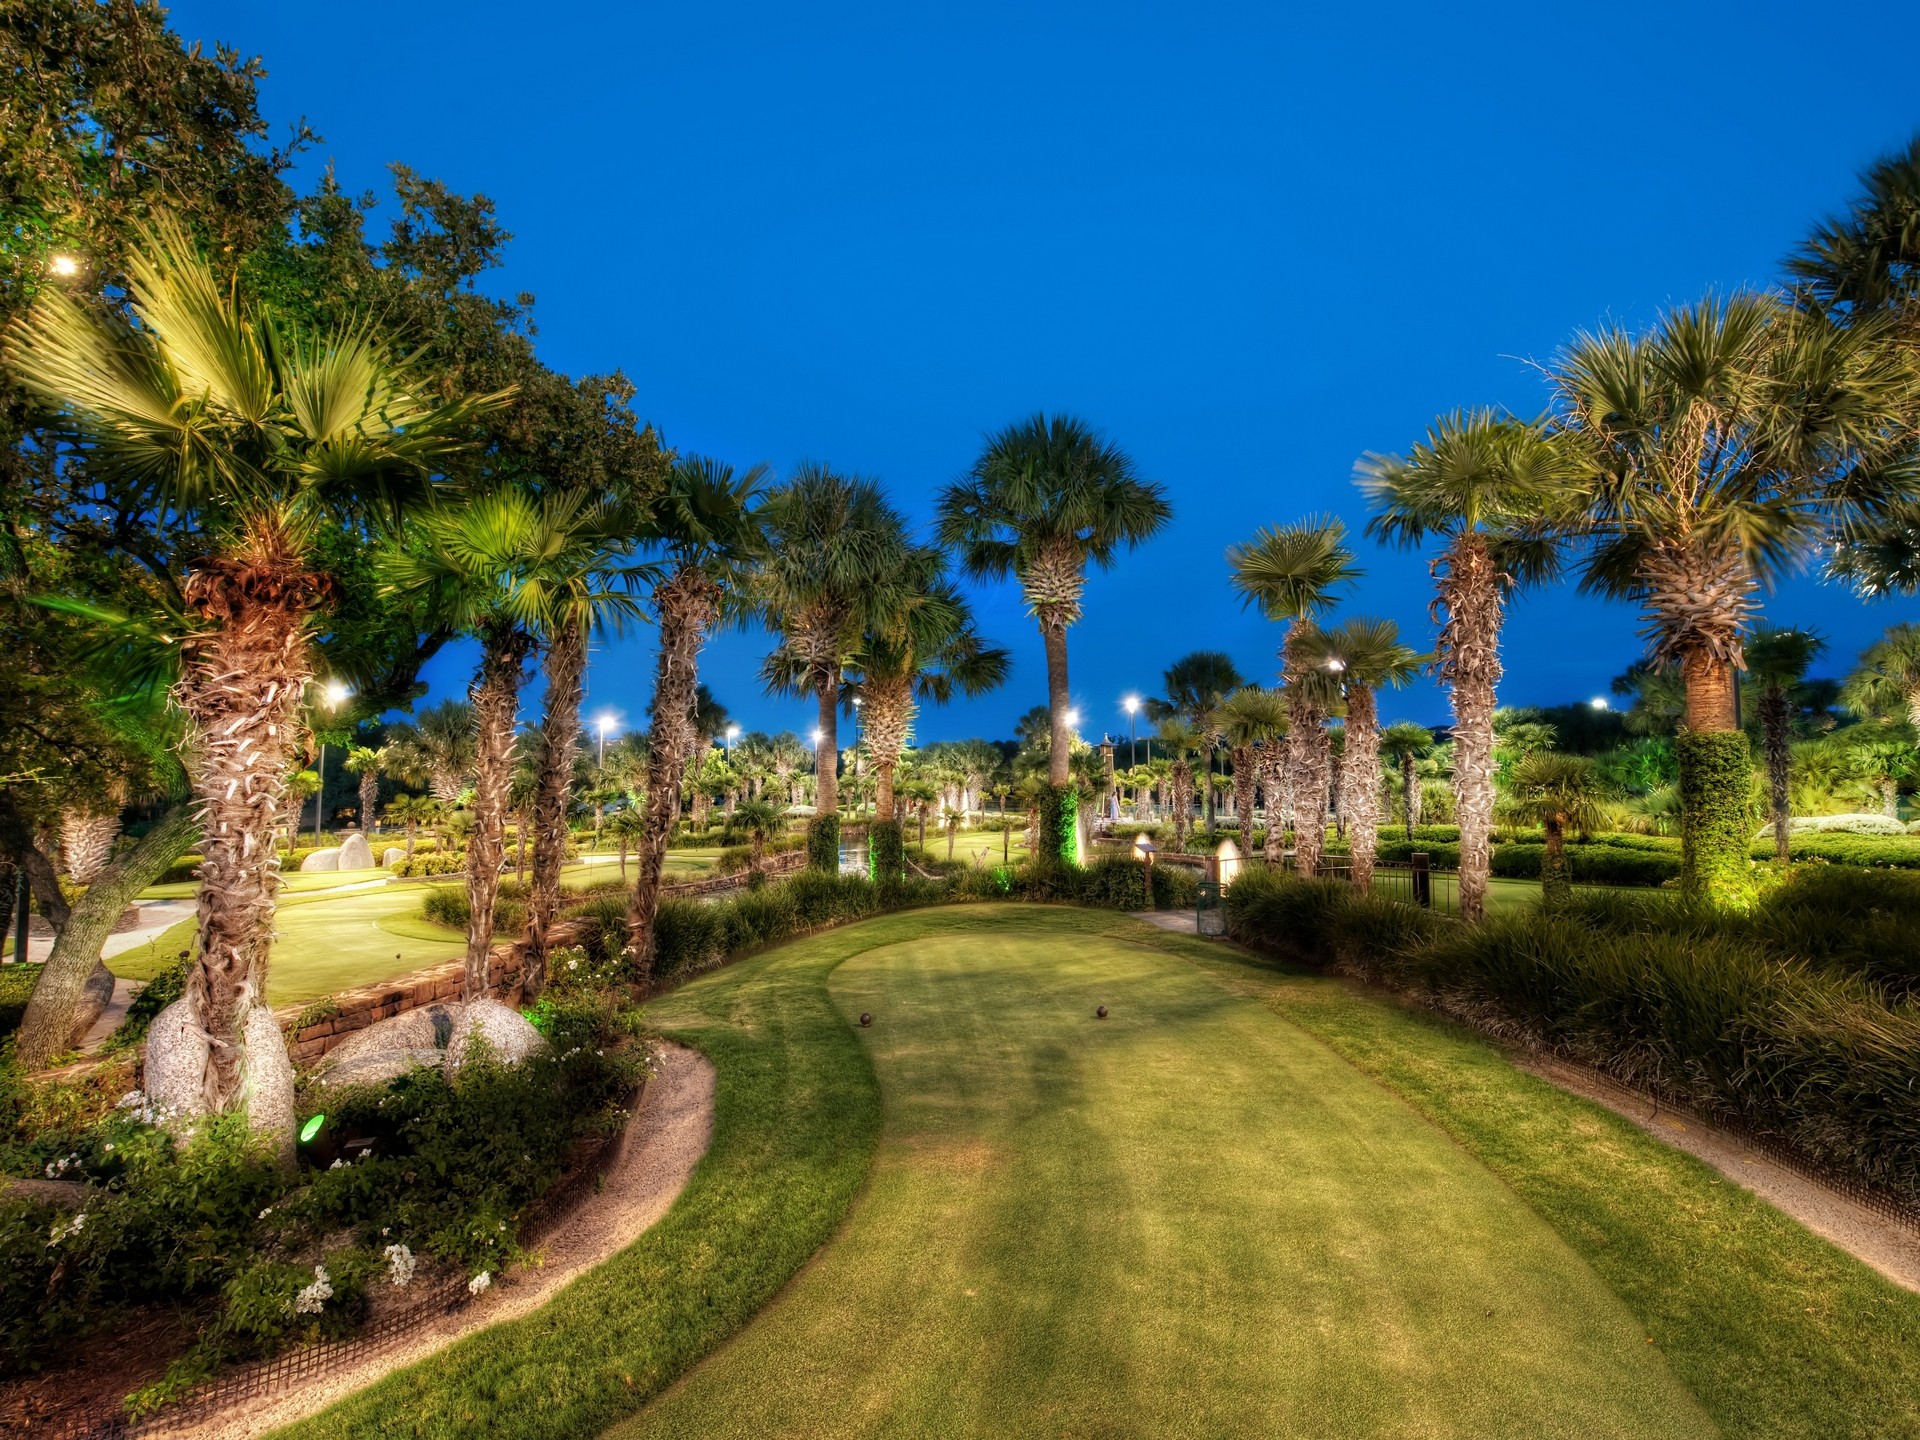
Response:
POLYGON ((1194 966, 979 912, 831 993, 877 1018, 868 1188, 624 1438, 1716 1432, 1511 1190, 1194 966))

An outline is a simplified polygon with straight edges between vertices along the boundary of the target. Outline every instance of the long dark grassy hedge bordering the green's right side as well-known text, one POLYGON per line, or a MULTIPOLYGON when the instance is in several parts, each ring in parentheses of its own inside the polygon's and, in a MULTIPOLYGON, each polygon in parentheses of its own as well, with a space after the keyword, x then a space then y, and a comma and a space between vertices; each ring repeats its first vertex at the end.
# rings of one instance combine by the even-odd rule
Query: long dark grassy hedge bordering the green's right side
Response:
MULTIPOLYGON (((1227 927, 1920 1202, 1920 1004, 1864 973, 1866 947, 1851 939, 1860 920, 1878 939, 1920 929, 1920 885, 1860 879, 1793 876, 1745 916, 1659 893, 1574 895, 1553 916, 1461 925, 1338 881, 1250 870, 1227 891, 1227 927)), ((1916 950, 1899 948, 1908 981, 1916 950)))

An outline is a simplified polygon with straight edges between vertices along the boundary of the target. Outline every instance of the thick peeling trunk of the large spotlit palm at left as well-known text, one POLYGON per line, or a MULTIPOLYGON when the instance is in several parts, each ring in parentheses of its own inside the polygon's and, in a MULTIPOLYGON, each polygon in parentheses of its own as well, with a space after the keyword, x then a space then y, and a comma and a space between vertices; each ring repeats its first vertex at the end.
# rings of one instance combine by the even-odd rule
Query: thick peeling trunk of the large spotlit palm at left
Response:
POLYGON ((324 599, 326 580, 267 524, 186 580, 207 628, 182 643, 173 691, 202 829, 200 952, 184 1000, 209 1041, 202 1100, 211 1112, 242 1098, 244 1029, 267 995, 280 885, 273 829, 313 678, 309 624, 324 599))

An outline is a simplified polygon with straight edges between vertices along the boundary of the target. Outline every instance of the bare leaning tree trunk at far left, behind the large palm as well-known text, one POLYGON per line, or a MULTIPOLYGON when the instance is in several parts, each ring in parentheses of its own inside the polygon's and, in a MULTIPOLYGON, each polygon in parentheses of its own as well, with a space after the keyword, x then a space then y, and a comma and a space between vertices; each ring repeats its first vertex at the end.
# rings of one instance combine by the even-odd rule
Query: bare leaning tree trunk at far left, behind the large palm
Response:
POLYGON ((27 1014, 19 1021, 15 1056, 27 1069, 38 1069, 61 1050, 75 1044, 77 1031, 92 1023, 83 1010, 86 985, 100 968, 100 948, 113 933, 113 922, 140 891, 159 879, 167 866, 186 854, 200 835, 200 820, 192 804, 175 804, 140 843, 109 862, 94 876, 67 924, 54 937, 54 952, 46 956, 40 977, 27 998, 27 1014))

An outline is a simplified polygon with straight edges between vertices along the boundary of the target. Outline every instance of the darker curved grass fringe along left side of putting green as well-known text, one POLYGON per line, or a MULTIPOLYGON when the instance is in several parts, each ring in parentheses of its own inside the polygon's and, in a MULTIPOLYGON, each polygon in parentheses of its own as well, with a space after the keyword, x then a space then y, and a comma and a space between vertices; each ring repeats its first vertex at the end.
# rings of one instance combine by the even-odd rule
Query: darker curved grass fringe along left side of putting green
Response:
POLYGON ((668 1215, 538 1313, 390 1375, 282 1434, 589 1436, 745 1325, 833 1233, 866 1175, 879 1091, 826 979, 918 916, 695 981, 653 1018, 718 1068, 714 1139, 668 1215))

